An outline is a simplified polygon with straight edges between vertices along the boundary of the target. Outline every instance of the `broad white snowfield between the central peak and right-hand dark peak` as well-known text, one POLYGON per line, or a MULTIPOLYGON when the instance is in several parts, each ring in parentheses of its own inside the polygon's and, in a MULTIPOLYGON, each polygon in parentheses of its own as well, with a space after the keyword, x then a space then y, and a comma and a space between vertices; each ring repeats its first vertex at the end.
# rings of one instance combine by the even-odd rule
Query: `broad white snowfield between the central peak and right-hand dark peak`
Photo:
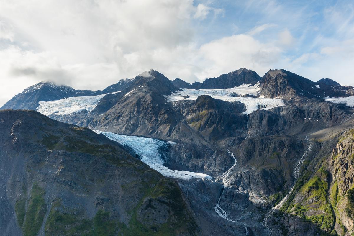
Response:
POLYGON ((257 96, 257 93, 260 89, 261 87, 259 86, 259 82, 253 86, 251 84, 246 84, 234 88, 212 88, 199 90, 183 88, 183 91, 177 91, 176 93, 172 93, 171 95, 166 96, 166 98, 169 102, 176 102, 178 100, 196 100, 201 95, 209 95, 212 98, 223 100, 226 102, 240 102, 245 104, 246 111, 244 111, 243 114, 246 115, 258 109, 267 110, 285 105, 284 101, 278 98, 235 97, 246 94, 257 96))

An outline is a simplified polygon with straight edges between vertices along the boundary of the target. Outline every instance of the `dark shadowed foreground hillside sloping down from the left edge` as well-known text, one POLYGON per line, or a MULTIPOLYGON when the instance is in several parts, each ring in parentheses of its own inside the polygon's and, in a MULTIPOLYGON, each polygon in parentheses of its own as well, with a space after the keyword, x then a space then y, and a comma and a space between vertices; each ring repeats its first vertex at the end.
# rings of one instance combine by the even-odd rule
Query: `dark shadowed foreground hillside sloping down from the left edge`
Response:
POLYGON ((101 134, 4 110, 0 141, 1 235, 198 234, 178 184, 101 134))

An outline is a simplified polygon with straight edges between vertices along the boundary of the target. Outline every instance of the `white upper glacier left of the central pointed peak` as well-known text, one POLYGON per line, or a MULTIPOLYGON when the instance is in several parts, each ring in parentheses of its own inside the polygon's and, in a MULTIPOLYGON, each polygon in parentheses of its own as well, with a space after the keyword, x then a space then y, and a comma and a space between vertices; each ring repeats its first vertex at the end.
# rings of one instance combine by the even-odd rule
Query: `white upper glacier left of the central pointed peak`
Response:
MULTIPOLYGON (((120 91, 119 91, 120 92, 120 91)), ((118 92, 114 92, 118 93, 118 92)), ((49 102, 39 102, 36 111, 43 115, 70 115, 82 110, 92 111, 106 94, 85 97, 62 98, 49 102)))

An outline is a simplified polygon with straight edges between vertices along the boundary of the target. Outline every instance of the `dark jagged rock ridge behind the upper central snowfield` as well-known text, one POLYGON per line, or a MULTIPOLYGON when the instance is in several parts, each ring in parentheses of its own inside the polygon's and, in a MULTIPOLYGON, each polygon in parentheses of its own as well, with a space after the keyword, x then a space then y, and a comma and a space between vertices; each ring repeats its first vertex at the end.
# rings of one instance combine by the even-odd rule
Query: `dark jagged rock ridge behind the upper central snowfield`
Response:
POLYGON ((243 84, 256 84, 260 79, 261 77, 255 71, 241 68, 216 78, 206 79, 202 83, 194 82, 191 85, 179 78, 173 80, 172 83, 178 88, 233 88, 243 84))

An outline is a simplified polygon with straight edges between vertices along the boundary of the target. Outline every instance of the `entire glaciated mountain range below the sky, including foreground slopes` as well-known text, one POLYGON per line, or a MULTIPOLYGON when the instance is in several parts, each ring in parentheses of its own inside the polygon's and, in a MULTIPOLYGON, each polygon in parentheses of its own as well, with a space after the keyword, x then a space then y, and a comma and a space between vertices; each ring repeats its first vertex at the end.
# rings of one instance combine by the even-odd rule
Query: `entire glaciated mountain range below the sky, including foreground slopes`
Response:
POLYGON ((354 88, 241 68, 0 108, 0 235, 351 235, 354 88))

